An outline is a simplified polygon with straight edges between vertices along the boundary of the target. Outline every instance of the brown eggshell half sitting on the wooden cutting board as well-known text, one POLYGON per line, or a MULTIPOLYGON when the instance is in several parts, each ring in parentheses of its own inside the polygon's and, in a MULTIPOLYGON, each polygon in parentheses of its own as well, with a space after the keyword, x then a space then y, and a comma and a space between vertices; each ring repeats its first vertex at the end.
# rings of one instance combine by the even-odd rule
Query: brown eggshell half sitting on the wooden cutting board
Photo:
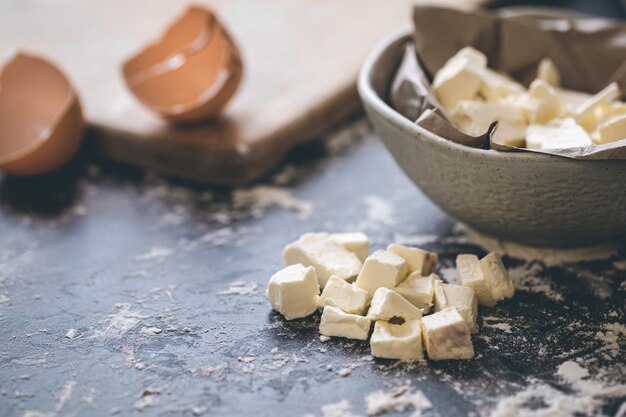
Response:
POLYGON ((242 78, 239 49, 210 10, 190 7, 161 40, 126 61, 126 85, 164 118, 189 123, 218 114, 242 78))

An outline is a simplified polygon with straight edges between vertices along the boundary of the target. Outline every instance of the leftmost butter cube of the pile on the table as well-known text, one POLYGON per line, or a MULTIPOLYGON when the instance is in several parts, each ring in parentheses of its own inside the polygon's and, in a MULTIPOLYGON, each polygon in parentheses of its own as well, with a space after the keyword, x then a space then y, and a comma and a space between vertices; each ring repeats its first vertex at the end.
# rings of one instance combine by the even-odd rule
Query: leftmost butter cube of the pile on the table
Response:
POLYGON ((276 311, 287 320, 293 320, 317 310, 319 291, 315 269, 295 264, 270 278, 266 296, 276 311))

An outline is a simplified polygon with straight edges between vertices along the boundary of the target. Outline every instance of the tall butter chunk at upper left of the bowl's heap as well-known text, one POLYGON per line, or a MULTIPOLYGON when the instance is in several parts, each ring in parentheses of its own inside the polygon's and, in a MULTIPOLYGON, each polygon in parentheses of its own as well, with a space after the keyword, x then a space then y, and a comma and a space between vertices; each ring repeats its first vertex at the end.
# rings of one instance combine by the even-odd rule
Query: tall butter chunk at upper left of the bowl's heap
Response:
POLYGON ((432 88, 437 99, 447 109, 461 100, 473 99, 486 67, 487 58, 481 52, 470 47, 461 49, 435 74, 432 88))

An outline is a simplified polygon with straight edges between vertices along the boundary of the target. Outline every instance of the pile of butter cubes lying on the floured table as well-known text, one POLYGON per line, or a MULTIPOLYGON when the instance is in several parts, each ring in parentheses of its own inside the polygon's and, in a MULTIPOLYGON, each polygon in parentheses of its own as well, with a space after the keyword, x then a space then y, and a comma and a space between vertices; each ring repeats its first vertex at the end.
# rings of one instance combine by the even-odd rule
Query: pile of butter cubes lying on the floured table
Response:
POLYGON ((515 292, 497 253, 459 255, 462 285, 434 273, 438 256, 391 244, 369 254, 363 233, 306 233, 283 251, 267 298, 287 320, 322 310, 322 338, 370 338, 372 355, 400 360, 470 359, 478 304, 494 306, 515 292), (322 293, 320 295, 320 288, 322 293))

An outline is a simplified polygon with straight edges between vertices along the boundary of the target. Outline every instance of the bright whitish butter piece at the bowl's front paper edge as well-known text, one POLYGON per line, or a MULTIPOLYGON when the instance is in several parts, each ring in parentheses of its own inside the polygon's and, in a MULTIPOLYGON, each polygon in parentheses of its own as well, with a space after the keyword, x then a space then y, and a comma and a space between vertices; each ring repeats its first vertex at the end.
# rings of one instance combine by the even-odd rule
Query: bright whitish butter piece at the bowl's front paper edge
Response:
POLYGON ((549 125, 530 125, 526 130, 529 149, 564 149, 592 145, 589 134, 570 117, 549 125))

